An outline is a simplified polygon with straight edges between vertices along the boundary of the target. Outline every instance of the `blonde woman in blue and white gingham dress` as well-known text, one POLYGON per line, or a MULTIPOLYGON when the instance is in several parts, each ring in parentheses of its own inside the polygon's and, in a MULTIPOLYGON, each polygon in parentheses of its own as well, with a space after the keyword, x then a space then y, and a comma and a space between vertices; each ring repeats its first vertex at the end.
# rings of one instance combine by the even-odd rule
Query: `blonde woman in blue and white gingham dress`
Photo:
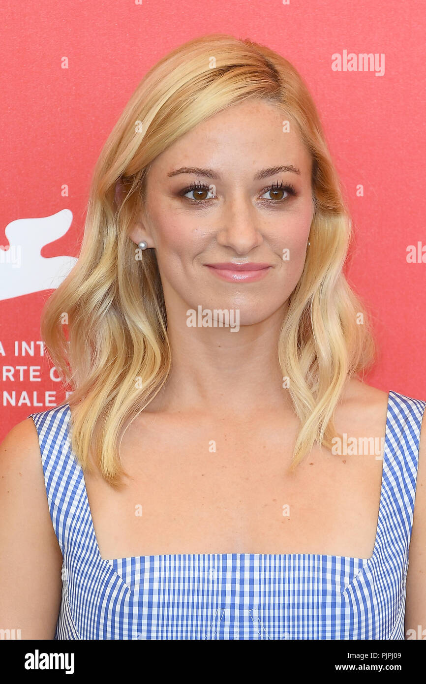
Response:
POLYGON ((2 624, 47 639, 426 624, 426 402, 361 380, 374 347, 342 272, 349 235, 289 62, 214 35, 150 70, 42 317, 72 393, 3 443, 2 624))

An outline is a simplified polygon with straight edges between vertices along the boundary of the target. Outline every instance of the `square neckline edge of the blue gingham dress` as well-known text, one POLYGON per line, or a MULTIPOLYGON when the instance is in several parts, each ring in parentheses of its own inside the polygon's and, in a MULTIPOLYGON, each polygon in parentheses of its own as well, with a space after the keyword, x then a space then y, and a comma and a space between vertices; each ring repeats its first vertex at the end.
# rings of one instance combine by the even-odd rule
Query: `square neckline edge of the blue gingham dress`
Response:
MULTIPOLYGON (((373 547, 373 552, 371 553, 371 556, 369 558, 359 558, 356 556, 344 556, 344 555, 335 555, 335 554, 330 554, 330 553, 238 553, 238 552, 230 552, 230 553, 220 553, 220 552, 211 552, 211 553, 157 553, 155 555, 135 555, 135 556, 123 556, 120 558, 103 558, 101 555, 101 549, 99 548, 98 544, 98 539, 96 538, 96 531, 94 529, 94 523, 93 523, 93 518, 92 518, 92 511, 90 510, 90 503, 89 503, 89 497, 88 497, 88 490, 86 489, 85 486, 85 479, 84 479, 84 473, 83 469, 81 468, 81 464, 78 462, 77 457, 77 464, 79 466, 79 473, 81 476, 81 484, 83 488, 83 501, 85 508, 88 510, 88 518, 89 518, 89 525, 90 525, 90 533, 93 536, 94 539, 94 544, 95 544, 95 551, 96 555, 98 556, 98 560, 101 560, 103 563, 108 563, 109 565, 111 564, 116 564, 124 561, 144 561, 146 562, 151 562, 152 560, 159 560, 161 558, 167 558, 167 557, 172 557, 172 558, 178 558, 178 557, 190 557, 195 559, 198 556, 202 556, 204 558, 207 557, 228 557, 228 556, 237 556, 237 557, 258 557, 259 559, 261 558, 281 558, 281 559, 291 559, 291 558, 336 558, 339 560, 349 560, 349 561, 358 561, 362 562, 363 566, 367 565, 367 563, 373 561, 375 558, 375 553, 377 550, 378 542, 379 542, 379 532, 380 532, 380 523, 382 521, 382 515, 383 515, 383 509, 384 509, 384 487, 383 487, 383 480, 384 480, 384 473, 385 473, 385 460, 387 458, 387 447, 386 443, 388 440, 388 432, 390 428, 390 395, 393 394, 394 392, 392 390, 388 391, 388 400, 386 404, 386 425, 385 425, 385 431, 384 431, 384 452, 383 452, 383 458, 382 458, 382 478, 380 480, 380 501, 379 501, 379 512, 377 515, 377 526, 376 526, 376 531, 375 531, 375 540, 374 540, 374 547, 373 547)), ((71 411, 68 406, 68 420, 71 418, 71 411)), ((73 452, 72 452, 73 453, 73 452)))

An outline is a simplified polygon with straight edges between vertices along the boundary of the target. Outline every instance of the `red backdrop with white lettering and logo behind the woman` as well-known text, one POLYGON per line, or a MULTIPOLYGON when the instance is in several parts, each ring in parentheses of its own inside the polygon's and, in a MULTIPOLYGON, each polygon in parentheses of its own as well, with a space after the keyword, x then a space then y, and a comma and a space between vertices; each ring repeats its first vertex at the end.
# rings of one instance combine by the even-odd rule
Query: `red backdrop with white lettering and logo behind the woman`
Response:
POLYGON ((40 343, 42 305, 57 287, 44 276, 78 254, 107 135, 152 64, 215 32, 266 44, 308 83, 353 216, 347 277, 380 346, 365 380, 426 399, 425 23, 414 0, 4 3, 0 439, 64 397, 40 343), (377 55, 384 73, 333 70, 344 51, 377 55), (409 246, 425 261, 410 263, 409 246))

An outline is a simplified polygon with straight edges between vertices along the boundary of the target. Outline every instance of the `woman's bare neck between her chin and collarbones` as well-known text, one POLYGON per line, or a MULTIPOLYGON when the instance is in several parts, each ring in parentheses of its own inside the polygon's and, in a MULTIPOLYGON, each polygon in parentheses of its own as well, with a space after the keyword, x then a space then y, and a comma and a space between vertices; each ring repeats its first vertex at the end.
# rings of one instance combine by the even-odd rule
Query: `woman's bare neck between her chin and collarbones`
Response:
MULTIPOLYGON (((278 337, 287 306, 267 319, 230 327, 188 327, 186 306, 168 309, 172 368, 150 409, 255 415, 289 406, 278 363, 278 337)), ((243 322, 243 321, 242 321, 243 322)))

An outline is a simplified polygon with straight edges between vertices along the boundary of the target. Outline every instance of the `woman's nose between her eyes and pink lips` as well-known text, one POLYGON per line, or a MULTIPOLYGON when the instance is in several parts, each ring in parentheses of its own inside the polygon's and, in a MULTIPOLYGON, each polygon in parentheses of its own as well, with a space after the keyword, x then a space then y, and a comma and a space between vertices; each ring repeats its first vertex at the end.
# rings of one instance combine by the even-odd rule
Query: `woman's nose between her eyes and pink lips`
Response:
POLYGON ((242 193, 224 201, 219 226, 217 243, 232 248, 236 254, 248 254, 263 242, 256 209, 242 193))

